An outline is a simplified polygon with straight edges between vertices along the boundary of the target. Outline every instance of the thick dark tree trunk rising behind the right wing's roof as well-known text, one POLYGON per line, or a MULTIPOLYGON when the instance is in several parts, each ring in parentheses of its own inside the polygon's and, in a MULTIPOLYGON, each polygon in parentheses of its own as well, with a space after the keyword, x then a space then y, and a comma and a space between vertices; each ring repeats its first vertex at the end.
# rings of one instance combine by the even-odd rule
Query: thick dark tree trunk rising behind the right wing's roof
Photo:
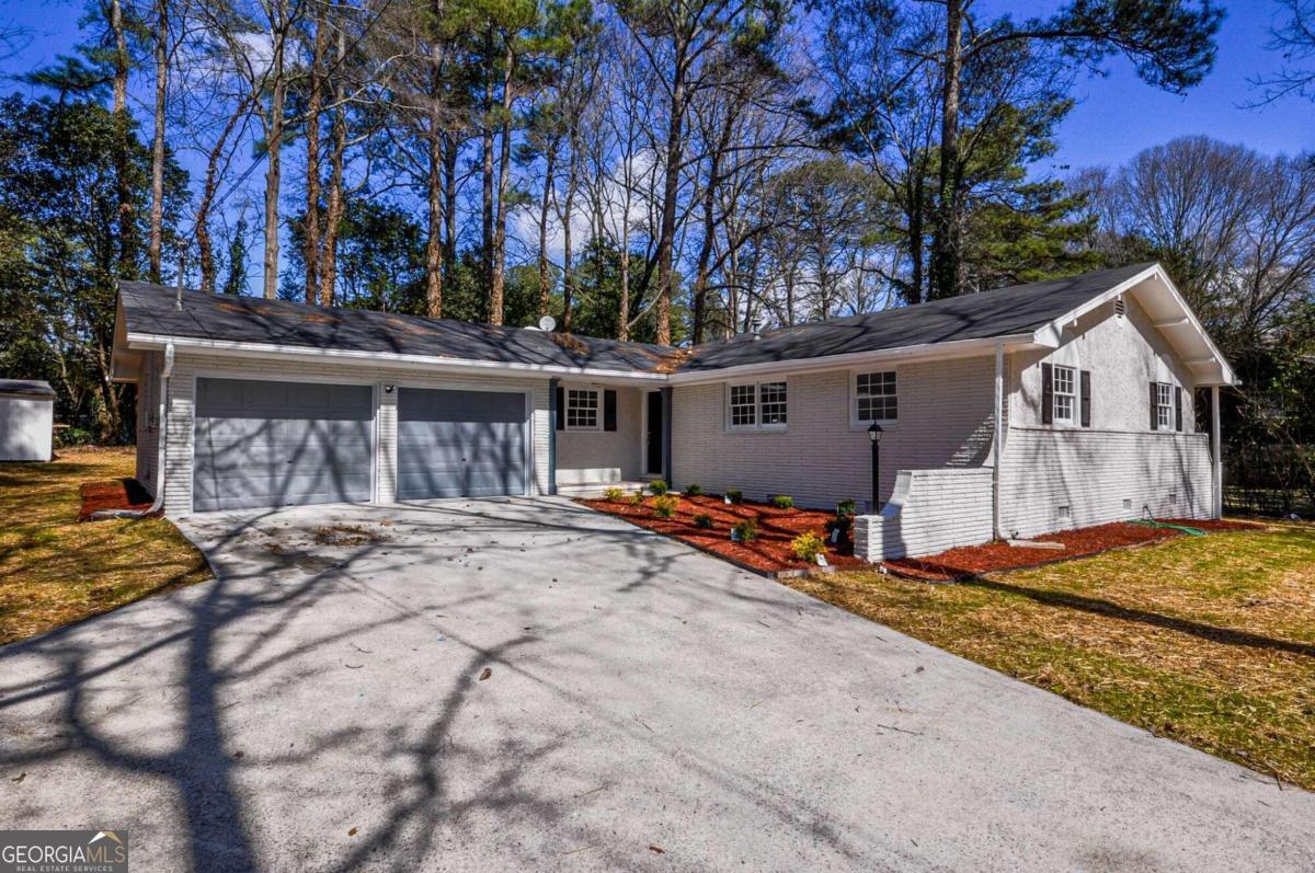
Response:
POLYGON ((959 95, 963 74, 963 0, 945 0, 945 57, 940 108, 940 168, 936 226, 931 251, 931 288, 936 300, 959 293, 959 95))

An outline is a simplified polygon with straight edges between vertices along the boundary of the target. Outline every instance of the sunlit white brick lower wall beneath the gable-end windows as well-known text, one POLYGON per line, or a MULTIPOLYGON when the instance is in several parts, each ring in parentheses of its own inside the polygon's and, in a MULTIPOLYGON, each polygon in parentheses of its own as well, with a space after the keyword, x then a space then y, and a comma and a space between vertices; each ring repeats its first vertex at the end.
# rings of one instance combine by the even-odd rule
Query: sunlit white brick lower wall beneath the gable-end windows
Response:
POLYGON ((1212 511, 1206 434, 1013 429, 1002 472, 1005 535, 1103 525, 1144 509, 1176 518, 1212 511))

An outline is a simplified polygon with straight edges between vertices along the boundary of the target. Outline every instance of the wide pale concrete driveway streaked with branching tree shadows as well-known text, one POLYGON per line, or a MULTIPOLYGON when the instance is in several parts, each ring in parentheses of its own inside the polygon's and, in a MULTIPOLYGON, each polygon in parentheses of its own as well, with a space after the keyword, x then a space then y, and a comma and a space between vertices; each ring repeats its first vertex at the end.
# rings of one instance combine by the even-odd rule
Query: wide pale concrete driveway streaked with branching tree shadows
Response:
POLYGON ((0 649, 0 827, 138 870, 1315 866, 1315 795, 564 501, 184 527, 218 581, 0 649))

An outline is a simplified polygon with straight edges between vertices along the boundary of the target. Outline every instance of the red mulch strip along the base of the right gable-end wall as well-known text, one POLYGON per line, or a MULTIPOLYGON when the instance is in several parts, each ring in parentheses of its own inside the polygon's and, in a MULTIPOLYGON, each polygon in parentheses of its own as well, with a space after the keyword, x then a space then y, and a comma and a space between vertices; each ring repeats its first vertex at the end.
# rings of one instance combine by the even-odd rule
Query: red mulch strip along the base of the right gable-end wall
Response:
MULTIPOLYGON (((1173 518, 1161 518, 1159 521, 1168 522, 1170 525, 1185 525, 1207 532, 1248 530, 1255 527, 1255 525, 1248 525, 1245 522, 1173 518)), ((984 546, 951 548, 948 552, 928 555, 926 557, 901 557, 899 560, 884 561, 884 564, 889 571, 898 576, 924 578, 927 581, 951 581, 997 571, 1038 567, 1072 557, 1081 557, 1084 555, 1095 555, 1111 548, 1155 543, 1177 536, 1186 536, 1186 534, 1172 529, 1144 527, 1141 525, 1130 525, 1128 522, 1114 522, 1111 525, 1080 527, 1076 530, 1065 530, 1036 538, 1038 540, 1049 543, 1064 543, 1063 551, 1026 548, 995 540, 984 546)))

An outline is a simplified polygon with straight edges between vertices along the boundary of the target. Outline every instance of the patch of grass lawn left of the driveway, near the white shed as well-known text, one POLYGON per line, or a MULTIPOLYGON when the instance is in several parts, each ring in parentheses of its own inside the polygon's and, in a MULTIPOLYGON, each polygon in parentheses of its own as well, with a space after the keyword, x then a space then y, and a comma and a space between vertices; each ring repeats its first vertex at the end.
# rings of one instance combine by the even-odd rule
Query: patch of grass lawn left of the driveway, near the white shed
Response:
POLYGON ((132 448, 0 464, 0 643, 210 577, 163 518, 78 522, 83 483, 132 475, 132 448))

